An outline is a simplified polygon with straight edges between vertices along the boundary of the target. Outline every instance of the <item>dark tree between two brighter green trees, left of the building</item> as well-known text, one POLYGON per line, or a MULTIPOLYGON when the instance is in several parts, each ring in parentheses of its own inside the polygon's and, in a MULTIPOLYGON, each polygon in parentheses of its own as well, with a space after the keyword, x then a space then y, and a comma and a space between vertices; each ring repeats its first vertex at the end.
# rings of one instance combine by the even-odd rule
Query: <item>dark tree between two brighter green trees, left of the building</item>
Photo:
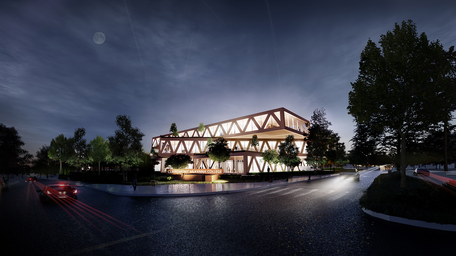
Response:
POLYGON ((74 129, 74 135, 68 139, 69 144, 69 157, 67 162, 73 166, 79 167, 82 171, 83 165, 89 162, 89 148, 87 140, 84 138, 86 131, 84 128, 74 129))

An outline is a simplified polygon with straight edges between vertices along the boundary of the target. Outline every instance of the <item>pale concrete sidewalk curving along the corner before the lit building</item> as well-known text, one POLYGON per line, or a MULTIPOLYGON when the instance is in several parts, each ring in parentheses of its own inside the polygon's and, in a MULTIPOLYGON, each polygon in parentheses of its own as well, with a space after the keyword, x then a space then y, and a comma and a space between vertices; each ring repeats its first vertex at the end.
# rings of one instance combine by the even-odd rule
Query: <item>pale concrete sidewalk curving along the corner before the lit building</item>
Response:
MULTIPOLYGON (((324 179, 327 177, 339 174, 326 174, 311 176, 311 180, 324 179)), ((52 179, 52 178, 51 178, 52 179)), ((55 178, 54 178, 55 179, 55 178)), ((295 176, 288 179, 274 180, 272 183, 265 182, 248 182, 248 183, 225 183, 225 184, 171 184, 171 185, 155 185, 154 186, 137 186, 133 190, 131 185, 119 184, 87 184, 76 181, 69 181, 63 179, 55 179, 56 181, 65 181, 65 183, 73 184, 76 186, 84 186, 90 189, 97 189, 108 192, 113 195, 125 196, 187 196, 187 195, 211 195, 211 194, 226 194, 236 193, 242 191, 249 191, 255 189, 264 189, 298 182, 306 182, 309 176, 295 176)))

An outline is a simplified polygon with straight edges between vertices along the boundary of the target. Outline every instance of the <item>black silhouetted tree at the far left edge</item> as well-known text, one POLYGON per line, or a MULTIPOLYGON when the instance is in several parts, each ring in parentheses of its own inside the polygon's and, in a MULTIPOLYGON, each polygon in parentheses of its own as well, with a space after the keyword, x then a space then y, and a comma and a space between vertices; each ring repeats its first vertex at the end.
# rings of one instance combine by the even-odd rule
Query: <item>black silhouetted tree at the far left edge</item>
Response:
POLYGON ((17 174, 27 169, 33 155, 22 148, 24 145, 16 128, 0 123, 0 171, 3 174, 17 174))

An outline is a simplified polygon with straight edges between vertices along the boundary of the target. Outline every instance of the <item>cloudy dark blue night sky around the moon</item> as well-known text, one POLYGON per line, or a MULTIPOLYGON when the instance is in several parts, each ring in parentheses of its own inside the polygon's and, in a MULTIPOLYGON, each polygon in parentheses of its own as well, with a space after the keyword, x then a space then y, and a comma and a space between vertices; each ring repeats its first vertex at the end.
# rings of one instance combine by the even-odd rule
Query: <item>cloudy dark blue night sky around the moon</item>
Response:
POLYGON ((78 127, 114 135, 124 114, 149 152, 173 122, 325 108, 348 150, 360 53, 409 19, 456 45, 454 0, 2 0, 0 123, 35 154, 78 127))

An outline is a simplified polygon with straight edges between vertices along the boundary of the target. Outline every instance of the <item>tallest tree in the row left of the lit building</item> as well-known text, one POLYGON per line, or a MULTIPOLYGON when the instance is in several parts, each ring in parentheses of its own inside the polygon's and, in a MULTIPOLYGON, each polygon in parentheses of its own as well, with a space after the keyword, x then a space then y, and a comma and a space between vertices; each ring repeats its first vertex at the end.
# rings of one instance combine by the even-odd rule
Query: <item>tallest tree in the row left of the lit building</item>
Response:
POLYGON ((127 181, 126 171, 130 167, 138 166, 144 158, 142 150, 142 138, 145 136, 140 129, 131 127, 130 117, 118 115, 115 123, 119 129, 115 130, 114 136, 109 136, 109 150, 112 162, 118 163, 127 181))

